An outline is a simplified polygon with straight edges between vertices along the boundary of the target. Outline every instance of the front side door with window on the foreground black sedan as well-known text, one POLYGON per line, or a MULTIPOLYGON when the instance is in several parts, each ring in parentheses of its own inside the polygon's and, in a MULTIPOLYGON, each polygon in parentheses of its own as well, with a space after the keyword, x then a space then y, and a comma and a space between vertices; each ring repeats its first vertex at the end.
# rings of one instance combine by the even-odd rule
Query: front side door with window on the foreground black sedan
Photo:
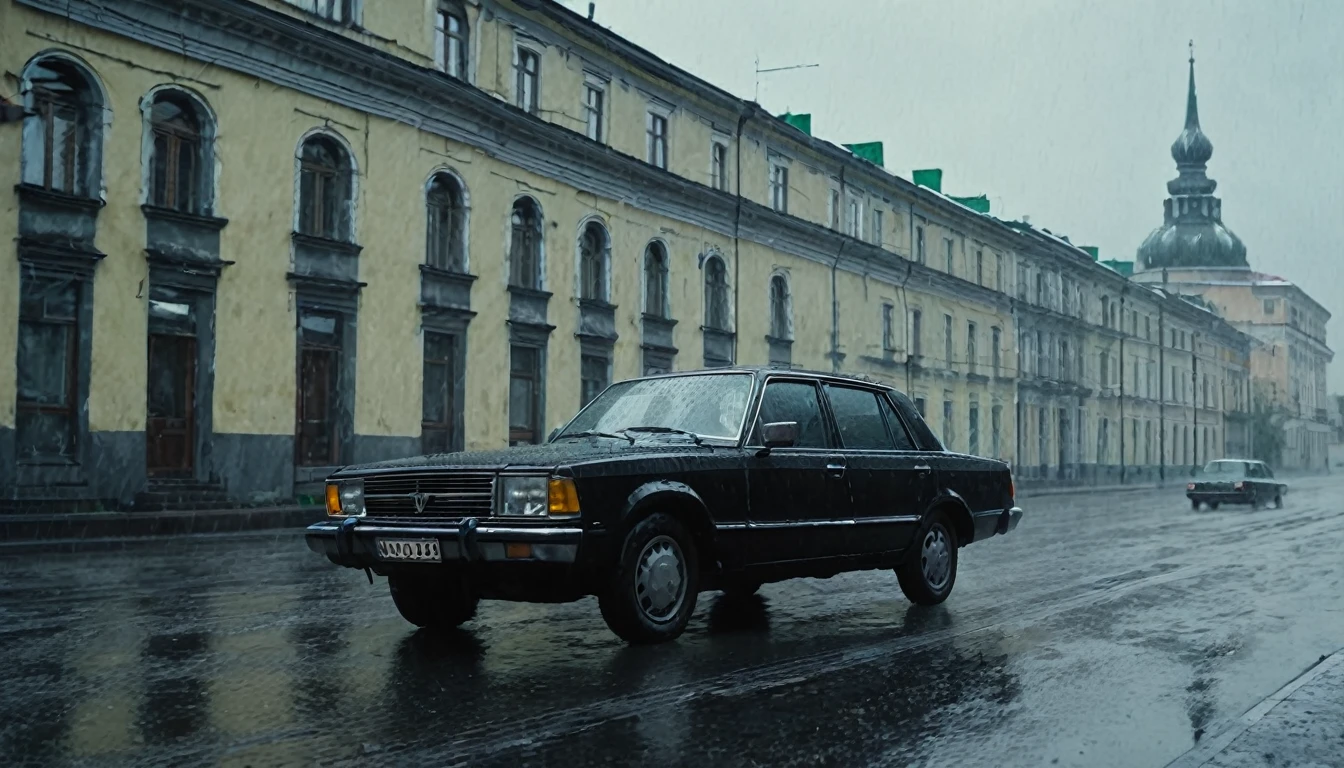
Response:
MULTIPOLYGON (((814 381, 770 377, 747 438, 749 565, 828 557, 841 550, 836 502, 847 495, 844 457, 835 448, 814 381), (763 449, 761 425, 793 421, 797 440, 763 449)), ((844 510, 848 511, 848 510, 844 510)))

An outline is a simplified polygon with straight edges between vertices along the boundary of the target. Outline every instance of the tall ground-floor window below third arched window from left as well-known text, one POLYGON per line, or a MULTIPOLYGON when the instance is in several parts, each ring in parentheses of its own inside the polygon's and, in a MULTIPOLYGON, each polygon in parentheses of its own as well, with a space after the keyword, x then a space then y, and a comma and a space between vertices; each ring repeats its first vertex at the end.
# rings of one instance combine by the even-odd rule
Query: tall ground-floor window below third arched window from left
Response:
POLYGON ((298 316, 298 425, 302 467, 340 463, 341 317, 302 309, 298 316))

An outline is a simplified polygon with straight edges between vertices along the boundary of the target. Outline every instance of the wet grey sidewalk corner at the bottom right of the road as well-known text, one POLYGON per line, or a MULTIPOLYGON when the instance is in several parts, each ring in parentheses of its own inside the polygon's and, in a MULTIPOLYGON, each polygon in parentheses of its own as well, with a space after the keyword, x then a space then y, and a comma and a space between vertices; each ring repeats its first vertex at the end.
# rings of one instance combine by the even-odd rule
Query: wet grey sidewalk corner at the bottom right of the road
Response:
POLYGON ((1344 767, 1344 651, 1337 651, 1167 768, 1344 767))

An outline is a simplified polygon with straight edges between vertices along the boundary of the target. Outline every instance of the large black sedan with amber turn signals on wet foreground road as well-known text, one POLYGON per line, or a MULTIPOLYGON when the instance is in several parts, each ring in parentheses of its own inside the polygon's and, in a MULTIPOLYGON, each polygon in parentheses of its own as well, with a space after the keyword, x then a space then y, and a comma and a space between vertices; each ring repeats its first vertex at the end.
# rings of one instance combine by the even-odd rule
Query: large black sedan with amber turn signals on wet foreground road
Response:
POLYGON ((894 569, 938 604, 958 547, 1021 518, 1008 465, 945 451, 903 394, 770 369, 612 385, 544 445, 347 467, 327 511, 308 546, 387 576, 413 624, 593 594, 630 643, 794 577, 894 569))

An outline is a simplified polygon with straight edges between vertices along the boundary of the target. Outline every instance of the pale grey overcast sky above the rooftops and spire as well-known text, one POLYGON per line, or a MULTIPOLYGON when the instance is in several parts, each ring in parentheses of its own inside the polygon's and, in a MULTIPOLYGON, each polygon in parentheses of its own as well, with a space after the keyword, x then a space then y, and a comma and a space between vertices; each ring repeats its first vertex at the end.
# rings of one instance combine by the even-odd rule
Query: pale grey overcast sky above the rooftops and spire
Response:
MULTIPOLYGON (((566 0, 587 12, 586 0, 566 0)), ((887 169, 1133 260, 1161 223, 1195 40, 1223 223, 1344 328, 1341 0, 598 0, 595 20, 887 169)), ((1344 358, 1344 355, 1341 355, 1344 358)), ((1344 393, 1344 359, 1331 366, 1344 393)))

